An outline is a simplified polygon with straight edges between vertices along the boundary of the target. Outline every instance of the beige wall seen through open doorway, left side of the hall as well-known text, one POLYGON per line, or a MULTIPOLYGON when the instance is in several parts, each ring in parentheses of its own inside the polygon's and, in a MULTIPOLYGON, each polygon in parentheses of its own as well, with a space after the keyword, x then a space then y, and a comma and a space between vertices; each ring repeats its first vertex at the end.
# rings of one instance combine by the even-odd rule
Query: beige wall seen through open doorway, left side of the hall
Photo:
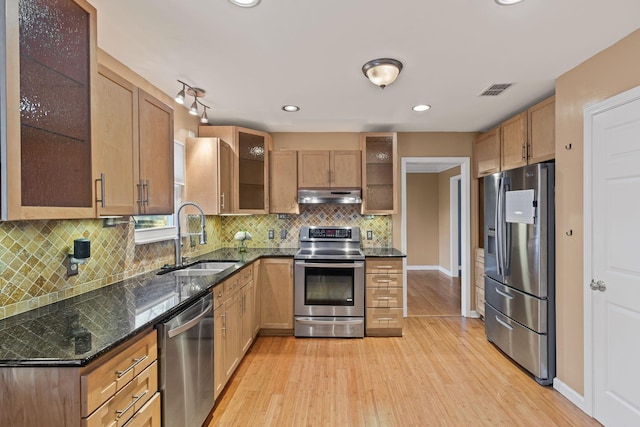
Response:
POLYGON ((407 265, 438 265, 438 175, 407 174, 407 265))

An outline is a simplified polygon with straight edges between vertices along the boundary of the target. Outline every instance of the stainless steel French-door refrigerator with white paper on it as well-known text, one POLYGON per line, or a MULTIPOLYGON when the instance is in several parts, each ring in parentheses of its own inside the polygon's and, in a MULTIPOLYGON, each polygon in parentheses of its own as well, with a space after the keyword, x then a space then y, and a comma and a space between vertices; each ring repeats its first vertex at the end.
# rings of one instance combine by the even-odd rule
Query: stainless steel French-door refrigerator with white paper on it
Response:
POLYGON ((484 178, 487 339, 549 385, 555 358, 554 164, 484 178))

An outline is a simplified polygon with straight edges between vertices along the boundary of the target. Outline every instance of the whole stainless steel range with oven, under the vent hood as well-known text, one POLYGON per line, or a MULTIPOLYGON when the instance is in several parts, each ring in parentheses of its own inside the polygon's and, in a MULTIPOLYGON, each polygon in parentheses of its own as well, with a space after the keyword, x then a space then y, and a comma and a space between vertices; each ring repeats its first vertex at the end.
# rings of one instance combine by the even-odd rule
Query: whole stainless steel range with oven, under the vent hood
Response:
POLYGON ((364 337, 364 254, 358 227, 300 229, 294 334, 364 337))

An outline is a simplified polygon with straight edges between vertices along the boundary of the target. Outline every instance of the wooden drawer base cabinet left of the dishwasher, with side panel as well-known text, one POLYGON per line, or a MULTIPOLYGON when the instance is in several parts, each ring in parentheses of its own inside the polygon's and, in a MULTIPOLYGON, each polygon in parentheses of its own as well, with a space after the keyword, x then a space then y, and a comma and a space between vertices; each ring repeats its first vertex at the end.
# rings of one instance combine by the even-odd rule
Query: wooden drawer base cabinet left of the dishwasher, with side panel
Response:
POLYGON ((160 426, 156 331, 82 368, 0 368, 0 425, 160 426))

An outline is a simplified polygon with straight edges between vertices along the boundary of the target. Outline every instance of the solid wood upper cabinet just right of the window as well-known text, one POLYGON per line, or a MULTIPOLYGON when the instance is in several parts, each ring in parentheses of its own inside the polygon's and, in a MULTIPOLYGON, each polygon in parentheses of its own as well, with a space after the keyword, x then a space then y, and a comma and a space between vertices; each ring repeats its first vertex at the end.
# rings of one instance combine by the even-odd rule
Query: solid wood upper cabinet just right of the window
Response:
POLYGON ((205 215, 232 213, 233 149, 220 138, 187 138, 187 199, 205 215))

